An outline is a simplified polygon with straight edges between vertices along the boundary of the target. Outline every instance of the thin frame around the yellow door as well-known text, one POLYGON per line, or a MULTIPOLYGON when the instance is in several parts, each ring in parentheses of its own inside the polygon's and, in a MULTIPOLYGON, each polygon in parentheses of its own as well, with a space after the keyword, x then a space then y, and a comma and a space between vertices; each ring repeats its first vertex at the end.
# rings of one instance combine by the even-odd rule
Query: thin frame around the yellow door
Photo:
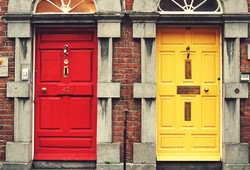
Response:
MULTIPOLYGON (((173 28, 173 27, 180 27, 180 28, 185 28, 185 27, 194 27, 194 28, 197 28, 197 27, 202 27, 202 28, 209 28, 209 27, 216 27, 216 28, 219 28, 219 30, 220 30, 220 35, 219 35, 219 38, 220 38, 220 54, 219 54, 219 60, 220 60, 220 104, 219 104, 219 107, 220 107, 220 109, 219 109, 219 115, 220 115, 220 126, 219 126, 219 128, 220 128, 220 137, 219 137, 219 143, 220 143, 220 161, 222 161, 222 137, 223 137, 223 134, 222 134, 222 132, 223 132, 223 129, 222 129, 222 127, 223 127, 223 117, 222 117, 222 113, 223 113, 223 110, 224 110, 224 105, 223 105, 223 100, 224 100, 224 96, 223 96, 223 58, 222 58, 222 52, 223 52, 223 44, 222 44, 222 35, 223 35, 223 29, 222 29, 222 27, 221 26, 219 26, 219 25, 157 25, 156 26, 156 31, 157 31, 157 29, 158 28, 173 28)), ((157 34, 156 34, 156 36, 155 36, 155 43, 156 43, 156 70, 157 70, 157 68, 158 68, 158 66, 157 66, 157 57, 158 57, 158 50, 157 50, 157 34)), ((157 71, 156 71, 156 77, 157 77, 157 71)), ((157 83, 157 80, 156 80, 156 83, 157 83)), ((156 96, 157 96, 157 94, 156 94, 156 96)), ((158 147, 158 144, 157 144, 157 136, 158 136, 158 132, 157 132, 157 130, 158 130, 158 124, 157 124, 157 122, 158 122, 158 120, 157 120, 157 118, 158 118, 158 111, 157 111, 157 104, 156 104, 156 110, 155 110, 155 112, 156 112, 156 151, 157 151, 157 147, 158 147)), ((157 157, 157 155, 156 155, 156 157, 157 157)), ((157 159, 157 158, 156 158, 157 159)), ((158 160, 158 161, 164 161, 164 160, 158 160)), ((176 160, 176 161, 180 161, 180 160, 176 160)), ((183 161, 185 161, 185 160, 183 160, 183 161)))

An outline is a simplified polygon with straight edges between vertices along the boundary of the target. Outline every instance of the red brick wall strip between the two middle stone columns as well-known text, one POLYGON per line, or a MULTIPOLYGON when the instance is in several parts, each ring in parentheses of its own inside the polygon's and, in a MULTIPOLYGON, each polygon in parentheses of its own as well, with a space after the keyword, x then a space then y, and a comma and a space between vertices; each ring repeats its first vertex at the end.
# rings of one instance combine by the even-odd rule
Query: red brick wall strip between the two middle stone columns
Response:
MULTIPOLYGON (((123 144, 124 110, 128 110, 127 161, 132 162, 133 143, 140 142, 140 100, 133 99, 133 83, 140 82, 140 40, 132 38, 132 23, 122 21, 121 38, 114 40, 113 80, 121 82, 121 98, 113 102, 113 141, 123 144)), ((121 147, 123 160, 123 145, 121 147)))

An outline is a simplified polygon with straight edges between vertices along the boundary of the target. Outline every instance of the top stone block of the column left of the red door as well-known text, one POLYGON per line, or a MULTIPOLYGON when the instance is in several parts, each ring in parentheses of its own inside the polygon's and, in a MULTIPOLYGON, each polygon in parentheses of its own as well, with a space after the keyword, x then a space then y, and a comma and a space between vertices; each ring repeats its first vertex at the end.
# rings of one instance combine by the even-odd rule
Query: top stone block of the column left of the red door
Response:
POLYGON ((31 24, 29 21, 9 22, 7 33, 10 38, 30 38, 31 24))

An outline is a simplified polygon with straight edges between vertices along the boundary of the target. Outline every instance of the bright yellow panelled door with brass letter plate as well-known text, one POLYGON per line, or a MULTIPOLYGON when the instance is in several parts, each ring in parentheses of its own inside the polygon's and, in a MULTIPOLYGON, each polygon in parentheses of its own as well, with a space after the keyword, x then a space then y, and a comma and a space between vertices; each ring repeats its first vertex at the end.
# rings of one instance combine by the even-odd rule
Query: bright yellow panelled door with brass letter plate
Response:
POLYGON ((220 29, 157 29, 157 160, 220 160, 220 29))

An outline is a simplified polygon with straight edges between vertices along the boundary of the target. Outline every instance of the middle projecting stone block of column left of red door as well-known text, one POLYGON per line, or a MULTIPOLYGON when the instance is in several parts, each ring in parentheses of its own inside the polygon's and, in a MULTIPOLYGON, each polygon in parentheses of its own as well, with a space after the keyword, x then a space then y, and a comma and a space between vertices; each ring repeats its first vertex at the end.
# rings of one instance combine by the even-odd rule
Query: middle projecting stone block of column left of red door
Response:
POLYGON ((23 82, 8 82, 7 97, 30 97, 30 84, 23 82))

